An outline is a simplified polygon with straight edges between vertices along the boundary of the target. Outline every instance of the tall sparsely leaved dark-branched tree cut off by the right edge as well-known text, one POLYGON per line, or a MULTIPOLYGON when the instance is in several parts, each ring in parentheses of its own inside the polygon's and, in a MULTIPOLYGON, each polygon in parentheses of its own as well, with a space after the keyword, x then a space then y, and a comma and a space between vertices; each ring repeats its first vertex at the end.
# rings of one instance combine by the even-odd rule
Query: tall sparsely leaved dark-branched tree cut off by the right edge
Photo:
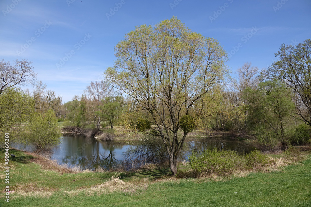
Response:
POLYGON ((275 56, 279 60, 269 67, 269 75, 298 94, 298 114, 311 126, 311 39, 297 46, 282 44, 275 56))

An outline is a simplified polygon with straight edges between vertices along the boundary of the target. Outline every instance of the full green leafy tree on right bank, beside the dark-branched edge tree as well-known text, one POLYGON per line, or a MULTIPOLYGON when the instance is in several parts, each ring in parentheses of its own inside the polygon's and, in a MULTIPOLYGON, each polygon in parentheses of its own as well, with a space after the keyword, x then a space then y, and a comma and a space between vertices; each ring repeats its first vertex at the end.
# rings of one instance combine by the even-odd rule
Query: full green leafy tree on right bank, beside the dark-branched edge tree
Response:
POLYGON ((286 150, 290 144, 287 131, 295 118, 293 93, 285 84, 269 80, 259 84, 258 89, 247 88, 244 97, 248 100, 248 124, 257 131, 258 140, 272 148, 281 142, 286 150))

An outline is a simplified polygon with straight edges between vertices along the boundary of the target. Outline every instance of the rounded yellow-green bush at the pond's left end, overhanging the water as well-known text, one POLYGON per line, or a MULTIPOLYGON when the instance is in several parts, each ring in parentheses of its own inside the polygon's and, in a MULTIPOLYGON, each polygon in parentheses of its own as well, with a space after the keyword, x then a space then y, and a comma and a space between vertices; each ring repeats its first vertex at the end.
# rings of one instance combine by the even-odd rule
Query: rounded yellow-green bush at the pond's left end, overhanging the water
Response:
POLYGON ((28 144, 36 146, 37 151, 44 151, 57 146, 60 142, 57 119, 52 109, 43 115, 37 113, 29 124, 28 144))

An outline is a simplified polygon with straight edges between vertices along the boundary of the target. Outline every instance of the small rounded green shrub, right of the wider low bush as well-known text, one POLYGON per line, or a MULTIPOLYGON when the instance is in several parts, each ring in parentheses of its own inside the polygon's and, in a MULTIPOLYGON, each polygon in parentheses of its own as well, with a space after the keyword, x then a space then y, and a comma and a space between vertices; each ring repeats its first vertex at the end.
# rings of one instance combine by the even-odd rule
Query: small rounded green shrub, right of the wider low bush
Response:
POLYGON ((246 166, 250 169, 259 170, 271 164, 268 155, 261 153, 259 150, 255 149, 249 154, 245 155, 246 166))

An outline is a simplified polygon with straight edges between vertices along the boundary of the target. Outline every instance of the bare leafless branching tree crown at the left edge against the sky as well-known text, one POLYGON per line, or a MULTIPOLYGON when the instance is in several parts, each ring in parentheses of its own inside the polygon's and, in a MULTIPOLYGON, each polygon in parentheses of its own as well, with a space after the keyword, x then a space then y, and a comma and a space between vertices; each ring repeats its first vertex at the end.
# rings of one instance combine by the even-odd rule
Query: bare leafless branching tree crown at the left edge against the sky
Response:
POLYGON ((34 83, 37 74, 32 70, 32 62, 16 60, 15 65, 10 62, 0 61, 0 94, 8 88, 25 83, 34 83))

